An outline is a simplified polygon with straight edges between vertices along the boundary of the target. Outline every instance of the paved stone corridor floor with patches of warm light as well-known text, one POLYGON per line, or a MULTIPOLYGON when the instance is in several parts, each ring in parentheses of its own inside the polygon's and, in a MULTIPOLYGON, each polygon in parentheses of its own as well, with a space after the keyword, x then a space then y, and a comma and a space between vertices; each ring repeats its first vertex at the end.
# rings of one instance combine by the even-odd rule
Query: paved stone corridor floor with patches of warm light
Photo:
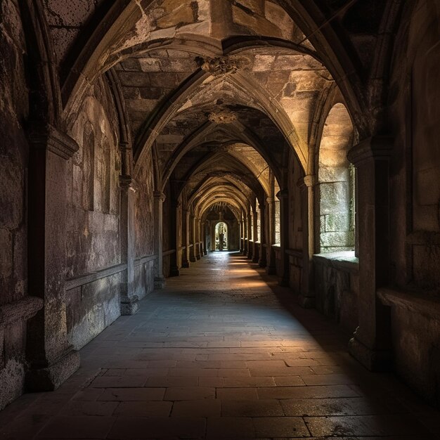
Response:
POLYGON ((81 356, 0 413, 0 439, 440 438, 439 412, 238 254, 183 269, 81 356))

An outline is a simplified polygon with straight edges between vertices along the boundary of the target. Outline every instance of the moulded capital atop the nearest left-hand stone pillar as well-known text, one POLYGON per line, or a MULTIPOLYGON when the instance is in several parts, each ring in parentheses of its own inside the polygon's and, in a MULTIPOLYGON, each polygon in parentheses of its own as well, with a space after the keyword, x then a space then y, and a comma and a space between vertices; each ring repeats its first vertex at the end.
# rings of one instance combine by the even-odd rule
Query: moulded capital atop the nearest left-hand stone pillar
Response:
POLYGON ((77 141, 51 124, 31 122, 27 136, 33 148, 47 149, 65 160, 79 150, 77 141))

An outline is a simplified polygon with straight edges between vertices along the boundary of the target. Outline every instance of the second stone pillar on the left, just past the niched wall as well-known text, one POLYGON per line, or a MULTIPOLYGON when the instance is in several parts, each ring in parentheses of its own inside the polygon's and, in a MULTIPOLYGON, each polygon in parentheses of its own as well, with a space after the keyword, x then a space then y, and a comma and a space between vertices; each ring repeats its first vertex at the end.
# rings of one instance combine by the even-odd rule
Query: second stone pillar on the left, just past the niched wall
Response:
POLYGON ((121 283, 121 315, 134 315, 139 309, 138 297, 134 292, 134 183, 130 176, 121 176, 121 257, 127 264, 127 271, 121 283))

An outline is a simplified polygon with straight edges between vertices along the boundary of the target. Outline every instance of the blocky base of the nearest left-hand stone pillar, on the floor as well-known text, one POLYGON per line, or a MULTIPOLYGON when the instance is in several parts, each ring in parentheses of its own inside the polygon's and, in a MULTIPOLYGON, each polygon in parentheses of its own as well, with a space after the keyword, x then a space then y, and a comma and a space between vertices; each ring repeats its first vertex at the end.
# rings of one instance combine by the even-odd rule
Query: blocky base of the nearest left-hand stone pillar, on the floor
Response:
POLYGON ((79 363, 79 351, 70 349, 52 365, 29 370, 25 377, 26 392, 54 391, 75 373, 79 363))

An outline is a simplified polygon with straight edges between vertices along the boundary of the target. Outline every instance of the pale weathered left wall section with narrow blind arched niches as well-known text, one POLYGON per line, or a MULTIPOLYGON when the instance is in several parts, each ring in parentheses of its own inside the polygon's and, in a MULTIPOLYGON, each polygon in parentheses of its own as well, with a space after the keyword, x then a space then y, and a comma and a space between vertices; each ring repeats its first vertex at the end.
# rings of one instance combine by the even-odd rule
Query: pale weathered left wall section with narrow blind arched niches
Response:
MULTIPOLYGON (((71 115, 68 133, 78 152, 67 179, 67 332, 83 347, 120 314, 120 273, 100 279, 90 274, 121 264, 119 171, 115 105, 105 79, 98 79, 71 115)), ((122 270, 122 269, 121 269, 122 270)))

